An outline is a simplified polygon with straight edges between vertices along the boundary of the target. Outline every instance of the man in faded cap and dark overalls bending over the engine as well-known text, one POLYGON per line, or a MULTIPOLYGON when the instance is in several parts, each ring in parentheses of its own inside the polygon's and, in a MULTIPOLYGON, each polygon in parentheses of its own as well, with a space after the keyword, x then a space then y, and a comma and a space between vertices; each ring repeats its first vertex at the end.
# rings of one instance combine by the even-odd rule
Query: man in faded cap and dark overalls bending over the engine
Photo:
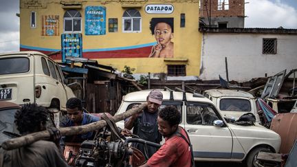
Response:
MULTIPOLYGON (((142 113, 134 114, 130 119, 127 119, 124 127, 129 130, 133 128, 133 134, 138 135, 142 140, 159 144, 162 141, 162 135, 158 131, 157 111, 162 100, 163 94, 160 91, 152 90, 146 98, 147 108, 142 113)), ((142 151, 144 155, 147 153, 148 158, 157 151, 157 148, 153 146, 146 146, 147 151, 144 151, 144 145, 140 143, 133 143, 132 146, 142 151)))

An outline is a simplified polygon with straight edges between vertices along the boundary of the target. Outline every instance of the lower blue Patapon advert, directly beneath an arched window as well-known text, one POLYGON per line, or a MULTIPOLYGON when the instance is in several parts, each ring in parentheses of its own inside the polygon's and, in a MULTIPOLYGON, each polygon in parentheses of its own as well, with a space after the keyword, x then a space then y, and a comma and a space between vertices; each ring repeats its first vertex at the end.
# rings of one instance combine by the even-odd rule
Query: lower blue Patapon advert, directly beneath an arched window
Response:
POLYGON ((66 62, 67 56, 76 58, 83 57, 83 38, 82 34, 62 34, 62 62, 66 62))

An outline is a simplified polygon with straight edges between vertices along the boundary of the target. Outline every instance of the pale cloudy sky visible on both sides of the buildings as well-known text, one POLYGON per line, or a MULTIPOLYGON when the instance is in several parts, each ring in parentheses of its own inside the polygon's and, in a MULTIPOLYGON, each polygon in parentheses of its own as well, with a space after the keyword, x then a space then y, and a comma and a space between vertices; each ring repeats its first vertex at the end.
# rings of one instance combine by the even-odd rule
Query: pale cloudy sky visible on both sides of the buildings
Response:
MULTIPOLYGON (((245 27, 297 29, 297 0, 245 0, 245 27)), ((1 0, 0 53, 19 51, 19 0, 1 0)))

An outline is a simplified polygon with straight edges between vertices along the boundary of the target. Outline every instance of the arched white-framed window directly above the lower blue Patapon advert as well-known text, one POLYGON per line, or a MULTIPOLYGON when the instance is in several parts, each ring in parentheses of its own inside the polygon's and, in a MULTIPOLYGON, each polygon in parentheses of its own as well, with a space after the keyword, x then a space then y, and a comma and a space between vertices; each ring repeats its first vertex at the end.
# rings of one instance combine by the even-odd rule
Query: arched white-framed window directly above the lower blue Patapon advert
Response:
POLYGON ((64 14, 64 32, 79 33, 82 30, 82 18, 77 10, 67 10, 64 14))

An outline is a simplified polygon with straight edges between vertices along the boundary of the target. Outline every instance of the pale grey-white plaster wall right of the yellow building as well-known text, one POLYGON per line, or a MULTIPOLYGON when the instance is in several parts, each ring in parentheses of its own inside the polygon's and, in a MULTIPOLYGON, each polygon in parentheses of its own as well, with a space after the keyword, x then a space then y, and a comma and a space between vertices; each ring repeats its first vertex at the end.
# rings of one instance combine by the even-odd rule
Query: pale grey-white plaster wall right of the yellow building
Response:
POLYGON ((240 82, 295 69, 297 34, 204 33, 199 78, 217 80, 219 74, 226 78, 225 57, 229 80, 240 82), (263 38, 277 38, 277 54, 262 54, 263 38))

